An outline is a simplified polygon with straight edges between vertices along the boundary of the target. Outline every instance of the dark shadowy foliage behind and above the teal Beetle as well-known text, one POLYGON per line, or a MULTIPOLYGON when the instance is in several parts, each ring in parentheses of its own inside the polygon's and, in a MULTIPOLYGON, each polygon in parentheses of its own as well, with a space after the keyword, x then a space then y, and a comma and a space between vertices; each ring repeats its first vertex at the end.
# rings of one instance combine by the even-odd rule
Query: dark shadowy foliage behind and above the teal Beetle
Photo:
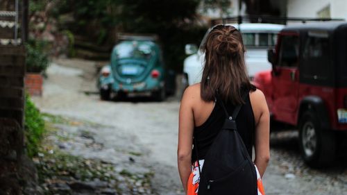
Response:
MULTIPOLYGON (((159 35, 168 67, 182 71, 185 44, 199 44, 208 28, 199 23, 199 6, 227 12, 229 0, 35 0, 49 1, 51 15, 74 22, 67 28, 96 45, 112 46, 116 32, 159 35)), ((60 21, 61 22, 61 21, 60 21)), ((77 36, 76 36, 77 37, 77 36)))

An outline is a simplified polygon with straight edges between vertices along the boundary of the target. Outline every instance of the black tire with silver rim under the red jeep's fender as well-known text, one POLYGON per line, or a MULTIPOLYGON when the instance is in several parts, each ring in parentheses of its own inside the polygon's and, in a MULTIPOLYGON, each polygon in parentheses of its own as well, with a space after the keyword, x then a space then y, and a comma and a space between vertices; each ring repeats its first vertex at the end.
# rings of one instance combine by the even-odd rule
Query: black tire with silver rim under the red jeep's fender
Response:
POLYGON ((328 167, 335 160, 335 139, 332 130, 321 128, 314 112, 303 114, 299 125, 299 146, 307 165, 314 168, 328 167))

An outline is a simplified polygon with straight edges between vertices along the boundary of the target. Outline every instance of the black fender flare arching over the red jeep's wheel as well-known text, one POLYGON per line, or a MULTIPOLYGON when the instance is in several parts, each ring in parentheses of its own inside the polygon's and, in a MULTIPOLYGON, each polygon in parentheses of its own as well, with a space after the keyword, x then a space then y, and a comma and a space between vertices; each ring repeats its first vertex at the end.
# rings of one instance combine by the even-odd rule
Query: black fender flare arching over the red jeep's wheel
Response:
POLYGON ((307 110, 314 111, 321 123, 322 129, 327 130, 331 128, 328 110, 323 99, 319 96, 305 96, 300 102, 297 124, 301 122, 301 117, 307 110))

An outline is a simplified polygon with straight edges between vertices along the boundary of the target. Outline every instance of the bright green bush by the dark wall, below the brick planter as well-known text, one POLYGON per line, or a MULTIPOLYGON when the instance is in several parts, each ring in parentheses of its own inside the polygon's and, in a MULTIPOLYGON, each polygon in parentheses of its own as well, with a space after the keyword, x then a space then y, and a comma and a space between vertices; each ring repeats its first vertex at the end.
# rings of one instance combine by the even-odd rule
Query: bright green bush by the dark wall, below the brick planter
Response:
POLYGON ((26 151, 29 157, 33 157, 37 154, 44 133, 44 120, 40 111, 35 107, 35 104, 31 101, 28 95, 26 95, 24 128, 26 151))

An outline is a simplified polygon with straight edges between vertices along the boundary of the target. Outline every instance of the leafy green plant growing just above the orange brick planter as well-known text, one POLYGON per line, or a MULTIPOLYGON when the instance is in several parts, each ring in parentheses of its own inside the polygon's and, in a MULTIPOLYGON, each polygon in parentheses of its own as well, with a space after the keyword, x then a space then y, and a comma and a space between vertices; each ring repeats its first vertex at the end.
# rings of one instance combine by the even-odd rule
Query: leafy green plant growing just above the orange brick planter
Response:
POLYGON ((44 73, 49 66, 48 55, 44 52, 44 42, 26 44, 26 71, 44 73))

